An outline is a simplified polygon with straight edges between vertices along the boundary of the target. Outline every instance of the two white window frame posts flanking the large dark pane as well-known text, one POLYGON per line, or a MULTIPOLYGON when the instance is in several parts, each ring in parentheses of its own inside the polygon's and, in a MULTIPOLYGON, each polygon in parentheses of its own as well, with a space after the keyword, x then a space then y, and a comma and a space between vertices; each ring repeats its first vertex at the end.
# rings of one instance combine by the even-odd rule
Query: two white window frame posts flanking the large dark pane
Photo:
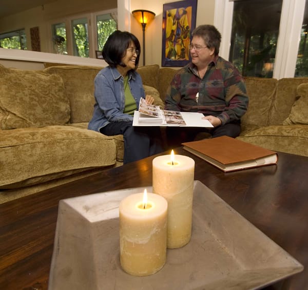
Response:
MULTIPOLYGON (((220 55, 228 60, 234 2, 216 0, 214 25, 221 32, 220 55)), ((305 0, 283 0, 273 78, 294 78, 305 0)))

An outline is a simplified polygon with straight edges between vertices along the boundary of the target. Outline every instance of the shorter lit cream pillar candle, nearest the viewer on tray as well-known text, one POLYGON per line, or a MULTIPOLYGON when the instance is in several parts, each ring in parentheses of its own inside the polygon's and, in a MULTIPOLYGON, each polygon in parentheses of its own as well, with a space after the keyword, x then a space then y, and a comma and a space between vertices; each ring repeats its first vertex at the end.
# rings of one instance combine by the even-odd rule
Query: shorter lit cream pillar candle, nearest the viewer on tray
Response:
POLYGON ((133 194, 119 207, 120 262, 125 272, 147 276, 160 270, 167 254, 167 201, 155 194, 133 194))

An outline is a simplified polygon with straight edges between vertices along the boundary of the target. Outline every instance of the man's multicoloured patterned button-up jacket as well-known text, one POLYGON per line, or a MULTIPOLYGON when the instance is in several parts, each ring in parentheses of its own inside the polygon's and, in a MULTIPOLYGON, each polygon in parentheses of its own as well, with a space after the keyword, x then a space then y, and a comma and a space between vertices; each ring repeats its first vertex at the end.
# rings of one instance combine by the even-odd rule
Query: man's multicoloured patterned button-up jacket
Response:
POLYGON ((247 107, 246 85, 241 74, 218 55, 208 65, 202 80, 194 64, 181 68, 171 81, 165 99, 166 110, 214 115, 222 125, 239 120, 247 107))

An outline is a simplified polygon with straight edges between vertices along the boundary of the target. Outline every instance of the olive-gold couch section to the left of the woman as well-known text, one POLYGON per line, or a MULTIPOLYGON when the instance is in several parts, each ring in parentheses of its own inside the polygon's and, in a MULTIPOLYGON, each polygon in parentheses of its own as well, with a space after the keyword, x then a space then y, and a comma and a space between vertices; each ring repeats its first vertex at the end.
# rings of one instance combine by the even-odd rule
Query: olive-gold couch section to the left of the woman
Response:
MULTIPOLYGON (((155 68, 150 80, 157 79, 155 68)), ((123 136, 107 137, 87 129, 93 80, 100 69, 54 66, 26 71, 0 65, 0 189, 123 164, 123 136)), ((163 104, 156 89, 144 87, 157 104, 163 104)))

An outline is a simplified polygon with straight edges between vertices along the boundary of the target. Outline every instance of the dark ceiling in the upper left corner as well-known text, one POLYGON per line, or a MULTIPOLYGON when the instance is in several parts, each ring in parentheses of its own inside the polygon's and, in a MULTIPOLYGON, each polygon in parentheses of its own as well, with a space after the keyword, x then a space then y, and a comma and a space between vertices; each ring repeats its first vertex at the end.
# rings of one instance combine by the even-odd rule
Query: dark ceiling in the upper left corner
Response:
POLYGON ((57 0, 1 0, 0 18, 55 1, 57 0))

